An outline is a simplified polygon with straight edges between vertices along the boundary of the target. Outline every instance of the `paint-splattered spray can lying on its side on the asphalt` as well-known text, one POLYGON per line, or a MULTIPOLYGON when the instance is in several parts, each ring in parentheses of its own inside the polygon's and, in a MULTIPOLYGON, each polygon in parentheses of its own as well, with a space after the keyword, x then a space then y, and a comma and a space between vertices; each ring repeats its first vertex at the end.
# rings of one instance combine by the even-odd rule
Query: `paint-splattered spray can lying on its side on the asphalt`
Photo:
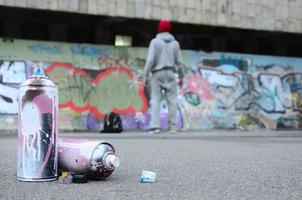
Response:
POLYGON ((104 179, 120 165, 114 147, 105 141, 58 140, 60 172, 86 174, 90 179, 104 179))

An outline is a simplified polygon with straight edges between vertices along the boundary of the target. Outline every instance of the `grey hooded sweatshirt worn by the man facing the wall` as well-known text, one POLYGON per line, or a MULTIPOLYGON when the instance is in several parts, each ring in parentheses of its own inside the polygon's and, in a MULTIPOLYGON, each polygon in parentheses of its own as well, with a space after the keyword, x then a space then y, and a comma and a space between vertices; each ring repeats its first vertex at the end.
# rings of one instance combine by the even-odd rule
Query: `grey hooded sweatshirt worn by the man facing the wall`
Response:
POLYGON ((151 40, 147 60, 144 68, 144 76, 152 71, 161 70, 164 67, 177 67, 179 78, 183 78, 182 57, 179 43, 169 32, 158 33, 151 40))

